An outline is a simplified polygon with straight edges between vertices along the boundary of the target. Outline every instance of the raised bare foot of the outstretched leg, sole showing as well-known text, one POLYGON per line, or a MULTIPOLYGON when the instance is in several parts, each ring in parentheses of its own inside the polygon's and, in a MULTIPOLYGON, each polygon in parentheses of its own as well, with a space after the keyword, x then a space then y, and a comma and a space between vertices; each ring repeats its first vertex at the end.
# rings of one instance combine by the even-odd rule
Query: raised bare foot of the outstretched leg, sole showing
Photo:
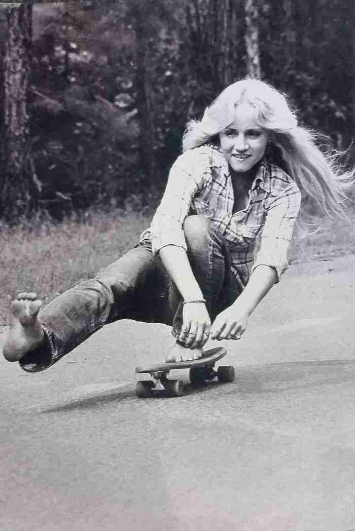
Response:
POLYGON ((9 332, 3 347, 9 362, 19 361, 27 352, 38 347, 44 332, 37 319, 42 302, 35 293, 20 293, 9 309, 9 332))

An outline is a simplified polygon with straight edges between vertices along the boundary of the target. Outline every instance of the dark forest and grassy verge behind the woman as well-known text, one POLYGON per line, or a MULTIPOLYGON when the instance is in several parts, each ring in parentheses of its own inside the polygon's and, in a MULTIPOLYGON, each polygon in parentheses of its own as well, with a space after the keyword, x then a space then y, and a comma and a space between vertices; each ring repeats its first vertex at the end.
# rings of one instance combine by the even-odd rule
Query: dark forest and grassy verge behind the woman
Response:
MULTIPOLYGON (((246 75, 354 164, 354 15, 353 0, 0 2, 0 324, 15 289, 49 301, 137 241, 185 124, 246 75)), ((325 226, 309 254, 355 252, 353 227, 325 226)))

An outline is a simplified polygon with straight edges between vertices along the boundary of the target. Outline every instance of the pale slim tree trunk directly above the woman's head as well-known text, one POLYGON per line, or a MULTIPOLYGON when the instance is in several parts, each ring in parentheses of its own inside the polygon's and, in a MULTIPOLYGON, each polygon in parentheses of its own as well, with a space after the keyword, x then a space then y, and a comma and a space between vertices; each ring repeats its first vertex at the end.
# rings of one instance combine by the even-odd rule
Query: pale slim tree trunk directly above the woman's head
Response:
POLYGON ((245 0, 247 75, 260 78, 258 2, 245 0))

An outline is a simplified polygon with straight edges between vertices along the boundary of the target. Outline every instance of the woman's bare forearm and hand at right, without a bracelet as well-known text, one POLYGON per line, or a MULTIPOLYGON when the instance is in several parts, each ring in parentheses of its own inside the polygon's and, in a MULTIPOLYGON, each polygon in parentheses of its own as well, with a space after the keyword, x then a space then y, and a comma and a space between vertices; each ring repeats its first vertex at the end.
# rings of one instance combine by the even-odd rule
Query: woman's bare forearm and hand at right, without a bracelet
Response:
POLYGON ((276 271, 268 265, 259 265, 241 295, 231 306, 217 315, 211 339, 239 338, 247 328, 251 313, 276 282, 276 271))

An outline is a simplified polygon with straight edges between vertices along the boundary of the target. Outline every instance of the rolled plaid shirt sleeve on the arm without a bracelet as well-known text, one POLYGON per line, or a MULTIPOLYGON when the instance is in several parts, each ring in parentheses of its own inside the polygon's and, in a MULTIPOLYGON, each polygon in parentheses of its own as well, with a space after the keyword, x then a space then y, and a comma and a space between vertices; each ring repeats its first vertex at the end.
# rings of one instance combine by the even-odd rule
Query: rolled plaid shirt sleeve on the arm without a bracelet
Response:
POLYGON ((260 250, 252 271, 259 265, 268 265, 276 271, 278 282, 289 268, 288 249, 293 227, 300 209, 301 193, 294 182, 282 194, 266 201, 266 220, 261 235, 260 250))

